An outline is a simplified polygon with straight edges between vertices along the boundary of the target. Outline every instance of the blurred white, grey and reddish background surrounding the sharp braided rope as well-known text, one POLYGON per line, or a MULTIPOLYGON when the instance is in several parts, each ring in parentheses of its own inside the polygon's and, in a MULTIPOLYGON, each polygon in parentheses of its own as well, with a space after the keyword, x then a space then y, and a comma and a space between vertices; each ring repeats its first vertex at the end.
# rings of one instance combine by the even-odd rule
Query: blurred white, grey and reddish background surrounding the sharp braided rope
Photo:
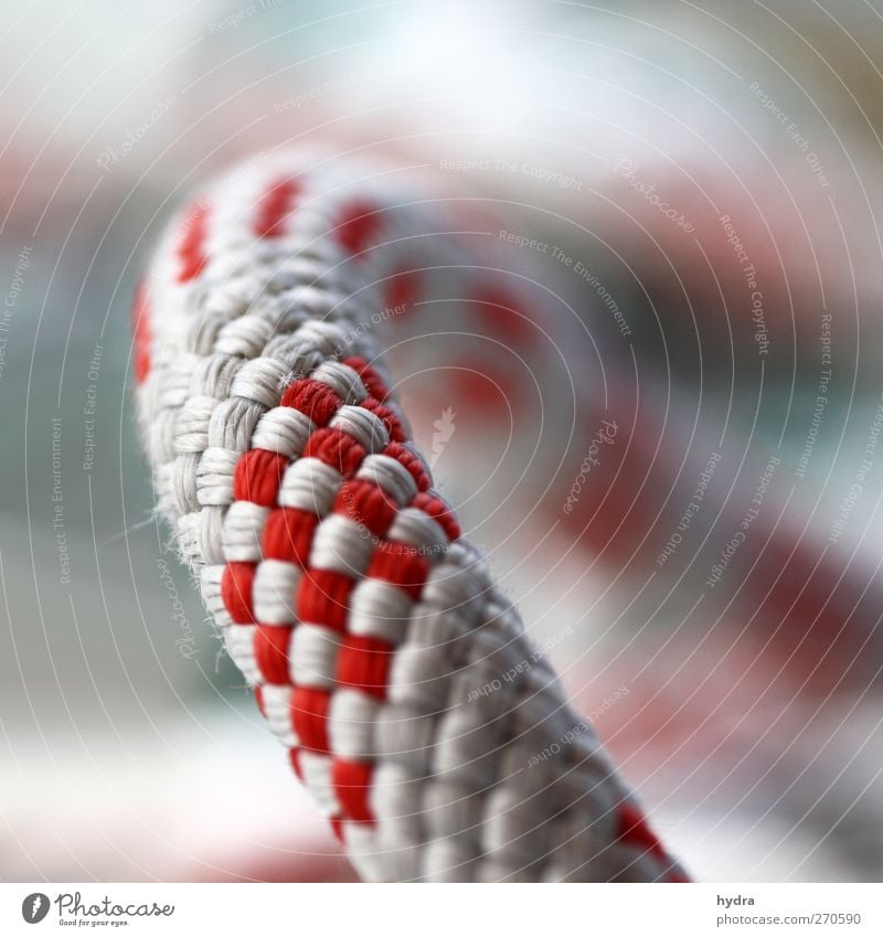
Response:
POLYGON ((131 418, 162 224, 307 142, 491 206, 571 310, 477 309, 400 394, 672 849, 880 881, 879 0, 39 0, 0 52, 0 877, 352 877, 131 418))

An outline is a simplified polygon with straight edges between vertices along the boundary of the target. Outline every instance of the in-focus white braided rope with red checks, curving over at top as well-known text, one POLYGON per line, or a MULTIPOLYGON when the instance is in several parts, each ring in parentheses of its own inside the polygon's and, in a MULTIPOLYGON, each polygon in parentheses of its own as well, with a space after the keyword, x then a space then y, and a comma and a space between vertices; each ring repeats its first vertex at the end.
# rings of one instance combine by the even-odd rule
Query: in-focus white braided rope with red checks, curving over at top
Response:
POLYGON ((263 158, 171 225, 135 307, 159 509, 364 879, 683 881, 433 490, 377 360, 408 271, 469 297, 492 264, 462 211, 357 178, 263 158))

